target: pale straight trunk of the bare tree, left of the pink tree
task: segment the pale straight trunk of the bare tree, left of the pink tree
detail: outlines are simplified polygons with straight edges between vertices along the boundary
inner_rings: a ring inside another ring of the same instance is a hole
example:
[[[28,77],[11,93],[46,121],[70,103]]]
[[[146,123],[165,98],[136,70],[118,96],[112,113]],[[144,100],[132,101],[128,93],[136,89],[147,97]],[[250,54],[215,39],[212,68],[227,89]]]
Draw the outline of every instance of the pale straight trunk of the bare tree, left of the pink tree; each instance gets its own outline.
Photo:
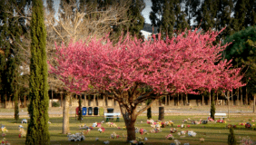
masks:
[[[63,111],[63,134],[69,133],[69,104],[70,104],[70,99],[71,98],[71,93],[68,92],[64,96],[64,111]]]

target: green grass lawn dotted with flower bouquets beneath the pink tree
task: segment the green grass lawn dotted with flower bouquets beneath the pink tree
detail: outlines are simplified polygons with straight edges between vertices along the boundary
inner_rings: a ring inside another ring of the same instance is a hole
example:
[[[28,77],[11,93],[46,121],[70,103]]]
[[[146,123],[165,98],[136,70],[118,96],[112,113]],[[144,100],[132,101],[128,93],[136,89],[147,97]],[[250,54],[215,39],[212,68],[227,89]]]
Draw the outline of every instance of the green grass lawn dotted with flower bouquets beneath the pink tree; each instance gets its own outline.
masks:
[[[158,116],[153,116],[153,120],[156,121]],[[236,135],[236,139],[240,141],[243,137],[250,137],[251,140],[256,141],[256,131],[252,131],[251,129],[245,129],[244,126],[239,126],[239,122],[251,122],[250,119],[256,120],[256,116],[237,116],[232,117],[231,122],[227,121],[227,123],[208,123],[208,124],[199,124],[193,125],[191,122],[183,123],[190,124],[190,128],[177,128],[177,125],[181,125],[182,121],[185,119],[191,118],[191,120],[199,121],[200,119],[206,119],[206,116],[165,116],[165,121],[173,121],[173,127],[167,126],[166,128],[162,128],[161,132],[158,133],[149,133],[145,135],[141,135],[140,133],[136,133],[137,137],[147,137],[148,140],[144,141],[146,144],[153,145],[161,145],[161,144],[170,144],[173,140],[165,139],[165,136],[170,134],[171,128],[176,128],[177,131],[195,131],[197,133],[196,137],[189,137],[187,134],[185,137],[179,136],[177,133],[172,134],[175,139],[180,140],[183,143],[189,142],[192,144],[207,144],[207,145],[215,145],[215,144],[227,144],[227,139],[229,135],[229,130],[226,128],[227,124],[235,124],[237,125],[237,129],[234,129],[234,133]],[[22,120],[22,119],[21,119]],[[18,121],[18,122],[21,122]],[[49,127],[49,131],[51,134],[51,144],[53,145],[83,145],[83,144],[103,144],[104,140],[109,140],[110,144],[127,144],[125,143],[126,138],[123,137],[123,134],[126,135],[126,130],[123,130],[124,122],[123,119],[120,122],[114,122],[121,129],[108,127],[105,123],[103,123],[103,127],[105,128],[105,132],[100,133],[98,128],[94,128],[94,130],[90,131],[88,134],[84,135],[85,140],[80,142],[71,142],[67,140],[67,136],[61,134],[62,132],[62,118],[51,118],[52,122]],[[80,121],[76,121],[74,117],[70,118],[70,131],[71,133],[81,132],[79,130],[79,125],[84,123],[87,126],[92,126],[93,123],[97,121],[103,121],[103,117],[84,117],[84,121],[80,123]],[[145,116],[138,117],[136,121],[136,127],[143,128],[146,131],[152,130],[150,124],[146,123],[147,119]],[[23,145],[25,144],[25,138],[19,138],[19,130],[18,125],[21,123],[15,123],[14,119],[0,119],[0,123],[5,125],[8,132],[6,133],[6,139],[11,143],[11,145]],[[253,124],[254,122],[251,122]],[[256,123],[255,123],[256,124]],[[25,127],[25,131],[27,129],[27,124],[23,124]],[[116,132],[120,135],[119,139],[109,139],[110,134]],[[98,141],[95,138],[99,138]],[[204,142],[201,142],[199,139],[204,138]],[[0,137],[2,140],[3,137]]]

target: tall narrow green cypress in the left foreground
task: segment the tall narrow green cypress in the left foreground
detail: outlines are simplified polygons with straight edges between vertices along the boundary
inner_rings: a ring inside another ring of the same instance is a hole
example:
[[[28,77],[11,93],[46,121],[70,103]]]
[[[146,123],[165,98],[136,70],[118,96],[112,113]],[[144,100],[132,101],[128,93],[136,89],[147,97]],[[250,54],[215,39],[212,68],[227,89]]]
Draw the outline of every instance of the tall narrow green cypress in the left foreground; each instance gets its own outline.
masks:
[[[32,40],[29,79],[30,104],[28,106],[30,121],[25,144],[44,145],[50,143],[50,134],[48,131],[49,97],[45,53],[46,30],[44,26],[44,5],[42,0],[33,0],[32,4]]]

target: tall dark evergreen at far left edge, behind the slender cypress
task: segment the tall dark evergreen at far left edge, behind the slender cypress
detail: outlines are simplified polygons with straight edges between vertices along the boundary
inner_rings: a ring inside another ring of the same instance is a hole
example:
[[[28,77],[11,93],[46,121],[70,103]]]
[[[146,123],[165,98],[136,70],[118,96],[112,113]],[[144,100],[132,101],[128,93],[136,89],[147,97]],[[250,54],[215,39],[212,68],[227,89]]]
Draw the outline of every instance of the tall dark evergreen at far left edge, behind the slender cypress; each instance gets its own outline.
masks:
[[[25,34],[25,18],[17,15],[24,14],[24,11],[25,0],[0,2],[0,99],[5,96],[5,107],[7,99],[16,99],[15,87],[18,87],[19,65],[23,56],[20,46]]]

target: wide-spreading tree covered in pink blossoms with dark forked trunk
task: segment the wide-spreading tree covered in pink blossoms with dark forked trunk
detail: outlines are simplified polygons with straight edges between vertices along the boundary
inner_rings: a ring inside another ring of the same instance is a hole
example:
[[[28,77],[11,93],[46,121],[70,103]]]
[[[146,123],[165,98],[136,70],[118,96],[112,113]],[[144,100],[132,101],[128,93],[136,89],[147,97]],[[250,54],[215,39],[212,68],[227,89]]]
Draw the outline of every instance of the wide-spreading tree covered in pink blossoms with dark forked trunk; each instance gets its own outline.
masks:
[[[218,32],[200,34],[188,31],[175,38],[153,41],[129,35],[113,44],[108,37],[90,42],[56,46],[58,74],[70,92],[94,90],[119,103],[127,128],[127,141],[135,140],[134,123],[139,114],[162,95],[176,92],[237,88],[241,86],[240,69],[221,60],[227,45],[212,45]],[[142,92],[142,88],[149,88]],[[137,111],[141,102],[152,99]]]

